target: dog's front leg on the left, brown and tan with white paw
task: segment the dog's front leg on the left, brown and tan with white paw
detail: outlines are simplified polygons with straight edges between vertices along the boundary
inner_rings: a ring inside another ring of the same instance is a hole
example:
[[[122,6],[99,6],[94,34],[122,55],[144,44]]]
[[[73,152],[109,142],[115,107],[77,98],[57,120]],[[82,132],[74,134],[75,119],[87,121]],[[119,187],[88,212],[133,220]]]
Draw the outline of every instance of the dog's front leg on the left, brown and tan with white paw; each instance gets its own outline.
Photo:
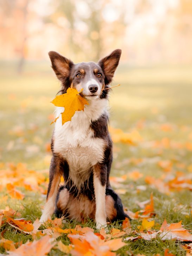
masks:
[[[51,159],[50,171],[49,171],[49,185],[47,190],[47,199],[43,214],[41,215],[40,222],[46,222],[51,218],[55,210],[56,197],[58,192],[58,186],[61,178],[60,170],[60,157],[59,154],[53,154]]]

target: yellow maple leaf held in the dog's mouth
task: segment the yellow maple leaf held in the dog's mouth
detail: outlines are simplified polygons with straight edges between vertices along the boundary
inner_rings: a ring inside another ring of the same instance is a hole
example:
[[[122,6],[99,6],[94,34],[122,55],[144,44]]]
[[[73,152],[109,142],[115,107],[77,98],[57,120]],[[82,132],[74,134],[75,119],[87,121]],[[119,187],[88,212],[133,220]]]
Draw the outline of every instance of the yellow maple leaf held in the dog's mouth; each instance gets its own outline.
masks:
[[[83,89],[81,89],[82,91]],[[56,96],[56,98],[51,101],[56,107],[64,107],[64,112],[61,113],[62,115],[62,125],[65,122],[71,121],[72,116],[75,114],[75,111],[81,111],[84,110],[84,105],[89,105],[87,100],[85,100],[83,97],[81,97],[79,92],[76,89],[68,88],[67,92]],[[52,122],[56,122],[56,119]],[[51,124],[52,124],[51,123]]]

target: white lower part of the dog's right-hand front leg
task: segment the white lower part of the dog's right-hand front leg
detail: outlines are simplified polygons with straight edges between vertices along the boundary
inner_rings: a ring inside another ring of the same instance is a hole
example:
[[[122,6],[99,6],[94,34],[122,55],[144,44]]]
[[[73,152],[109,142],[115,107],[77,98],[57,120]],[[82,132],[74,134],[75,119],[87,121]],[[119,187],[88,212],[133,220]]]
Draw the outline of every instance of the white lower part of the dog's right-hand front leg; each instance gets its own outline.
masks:
[[[101,185],[100,179],[94,173],[94,191],[95,191],[95,202],[96,202],[96,213],[95,220],[97,228],[107,225],[106,222],[106,211],[105,211],[105,190],[106,186]]]

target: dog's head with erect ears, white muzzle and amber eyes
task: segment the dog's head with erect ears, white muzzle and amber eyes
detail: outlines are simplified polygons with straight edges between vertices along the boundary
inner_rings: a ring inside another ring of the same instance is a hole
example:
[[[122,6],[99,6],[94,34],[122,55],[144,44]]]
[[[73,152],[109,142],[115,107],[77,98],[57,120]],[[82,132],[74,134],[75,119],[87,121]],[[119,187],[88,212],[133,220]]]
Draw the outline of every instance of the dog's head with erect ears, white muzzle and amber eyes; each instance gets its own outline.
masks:
[[[81,96],[88,99],[107,97],[109,90],[102,89],[108,88],[112,81],[120,56],[121,50],[116,49],[98,63],[81,62],[74,64],[70,59],[57,52],[49,52],[52,68],[62,83],[61,92],[65,93],[69,87],[78,91],[83,88]]]

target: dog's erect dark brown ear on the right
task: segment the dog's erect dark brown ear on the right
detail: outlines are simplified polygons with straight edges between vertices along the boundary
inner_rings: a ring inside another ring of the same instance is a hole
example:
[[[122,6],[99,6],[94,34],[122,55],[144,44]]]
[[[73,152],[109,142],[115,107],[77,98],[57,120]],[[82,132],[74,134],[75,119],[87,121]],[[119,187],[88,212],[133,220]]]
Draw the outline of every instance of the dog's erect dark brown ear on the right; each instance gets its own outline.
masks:
[[[98,64],[101,66],[105,74],[105,84],[109,84],[112,81],[114,72],[119,64],[119,59],[121,57],[121,50],[116,49],[111,52],[110,55],[101,59]]]

